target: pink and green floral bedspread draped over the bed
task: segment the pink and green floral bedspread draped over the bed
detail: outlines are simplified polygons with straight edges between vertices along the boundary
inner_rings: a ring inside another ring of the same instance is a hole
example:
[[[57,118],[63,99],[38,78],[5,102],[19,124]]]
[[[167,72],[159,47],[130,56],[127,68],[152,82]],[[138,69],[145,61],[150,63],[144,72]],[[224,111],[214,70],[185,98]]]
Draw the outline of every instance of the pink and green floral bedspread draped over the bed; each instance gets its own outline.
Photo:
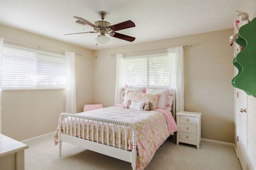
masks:
[[[152,159],[160,145],[162,145],[162,143],[164,143],[164,141],[170,135],[177,131],[176,122],[172,117],[172,113],[170,113],[170,111],[166,111],[166,109],[157,109],[156,111],[138,111],[134,109],[123,109],[122,107],[113,106],[77,114],[125,121],[134,125],[137,135],[137,170],[143,170],[149,164],[150,160]],[[100,129],[101,127],[102,125],[99,126]],[[56,145],[58,144],[57,131],[58,128],[56,130],[56,133],[54,134],[54,141]],[[74,129],[72,131],[74,135]],[[111,131],[112,130],[110,129],[110,133]],[[91,130],[90,133],[92,133]],[[96,140],[95,136],[96,135],[94,135],[94,140]],[[99,134],[99,136],[101,136],[101,134]],[[124,137],[123,134],[121,136]],[[82,134],[80,134],[80,137],[82,137]],[[110,138],[110,143],[112,143],[112,134],[110,134]],[[105,140],[107,140],[106,137],[104,137],[104,142],[106,142]],[[123,141],[124,140],[122,140],[122,145],[124,145]],[[118,133],[116,134],[115,142],[118,143]],[[128,129],[128,148],[132,150],[131,129]]]

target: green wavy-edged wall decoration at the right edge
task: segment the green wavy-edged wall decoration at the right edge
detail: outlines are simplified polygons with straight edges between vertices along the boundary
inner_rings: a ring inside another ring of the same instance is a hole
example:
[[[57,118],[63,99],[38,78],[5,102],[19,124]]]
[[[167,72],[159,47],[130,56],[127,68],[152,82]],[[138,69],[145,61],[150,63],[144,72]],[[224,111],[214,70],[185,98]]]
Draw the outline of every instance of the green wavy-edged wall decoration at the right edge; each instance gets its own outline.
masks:
[[[244,49],[233,60],[238,74],[231,84],[256,98],[256,18],[240,27],[236,43]]]

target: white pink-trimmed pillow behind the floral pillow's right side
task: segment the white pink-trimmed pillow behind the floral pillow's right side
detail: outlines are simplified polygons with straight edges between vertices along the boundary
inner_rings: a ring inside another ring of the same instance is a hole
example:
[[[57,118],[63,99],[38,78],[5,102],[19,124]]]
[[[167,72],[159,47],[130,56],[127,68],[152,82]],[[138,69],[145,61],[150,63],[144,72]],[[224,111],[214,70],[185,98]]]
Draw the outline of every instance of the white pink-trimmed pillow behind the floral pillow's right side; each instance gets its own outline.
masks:
[[[166,108],[166,104],[167,104],[167,99],[169,96],[169,92],[170,90],[164,90],[164,89],[146,89],[146,93],[149,94],[160,94],[160,98],[157,104],[157,108],[158,109],[165,109]]]

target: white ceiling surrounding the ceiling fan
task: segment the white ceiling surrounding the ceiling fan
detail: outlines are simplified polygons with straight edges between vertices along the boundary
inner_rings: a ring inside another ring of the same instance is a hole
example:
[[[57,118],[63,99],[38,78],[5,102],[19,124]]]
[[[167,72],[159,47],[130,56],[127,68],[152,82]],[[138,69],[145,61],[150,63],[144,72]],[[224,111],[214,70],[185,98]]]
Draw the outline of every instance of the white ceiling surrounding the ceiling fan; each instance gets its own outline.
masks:
[[[233,27],[242,0],[0,0],[0,24],[51,37],[88,49],[103,49],[142,43]],[[114,25],[132,20],[136,27],[116,31],[136,37],[129,42],[110,37],[99,46],[99,33],[89,25],[78,25],[73,16],[92,23],[99,11],[108,13],[105,21]],[[228,39],[229,37],[227,37]],[[228,40],[227,40],[228,41]]]

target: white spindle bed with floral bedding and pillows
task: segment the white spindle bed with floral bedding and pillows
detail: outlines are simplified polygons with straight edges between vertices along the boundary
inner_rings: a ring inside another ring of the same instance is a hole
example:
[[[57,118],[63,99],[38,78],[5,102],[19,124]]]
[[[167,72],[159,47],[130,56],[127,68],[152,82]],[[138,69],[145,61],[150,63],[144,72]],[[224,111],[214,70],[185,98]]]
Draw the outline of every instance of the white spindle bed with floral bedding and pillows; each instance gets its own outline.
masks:
[[[126,88],[122,99],[122,104],[112,107],[61,113],[54,134],[59,155],[64,141],[130,162],[133,170],[143,170],[160,145],[177,131],[175,96],[170,90]]]

